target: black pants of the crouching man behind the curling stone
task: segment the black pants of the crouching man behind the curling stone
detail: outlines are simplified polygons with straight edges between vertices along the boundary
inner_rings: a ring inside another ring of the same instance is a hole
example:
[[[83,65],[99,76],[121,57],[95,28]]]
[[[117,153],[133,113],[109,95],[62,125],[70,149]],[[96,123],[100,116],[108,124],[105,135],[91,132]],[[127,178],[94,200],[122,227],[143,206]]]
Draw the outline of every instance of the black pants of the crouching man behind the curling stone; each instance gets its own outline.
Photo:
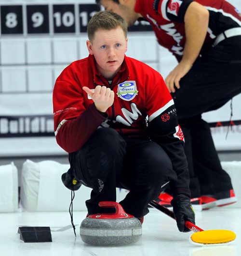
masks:
[[[98,203],[116,201],[116,187],[120,187],[130,190],[120,202],[123,209],[135,217],[144,216],[147,204],[164,190],[161,186],[176,181],[172,163],[157,143],[124,139],[112,128],[97,129],[69,159],[75,177],[93,189],[86,201],[90,214],[111,212]]]

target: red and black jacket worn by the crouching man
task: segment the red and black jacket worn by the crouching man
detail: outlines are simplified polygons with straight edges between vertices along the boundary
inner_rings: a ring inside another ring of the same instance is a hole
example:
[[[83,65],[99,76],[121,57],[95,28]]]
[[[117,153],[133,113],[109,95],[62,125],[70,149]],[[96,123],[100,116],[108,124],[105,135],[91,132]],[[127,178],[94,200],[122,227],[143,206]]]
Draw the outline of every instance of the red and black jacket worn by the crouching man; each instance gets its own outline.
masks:
[[[97,85],[105,85],[115,93],[114,103],[105,115],[97,111],[93,100],[82,90],[83,86],[94,90]],[[109,85],[90,55],[71,63],[59,75],[53,103],[55,136],[65,151],[78,151],[97,128],[110,127],[122,136],[150,138],[169,155],[178,176],[176,187],[188,194],[183,134],[173,99],[157,71],[125,56],[120,72]]]

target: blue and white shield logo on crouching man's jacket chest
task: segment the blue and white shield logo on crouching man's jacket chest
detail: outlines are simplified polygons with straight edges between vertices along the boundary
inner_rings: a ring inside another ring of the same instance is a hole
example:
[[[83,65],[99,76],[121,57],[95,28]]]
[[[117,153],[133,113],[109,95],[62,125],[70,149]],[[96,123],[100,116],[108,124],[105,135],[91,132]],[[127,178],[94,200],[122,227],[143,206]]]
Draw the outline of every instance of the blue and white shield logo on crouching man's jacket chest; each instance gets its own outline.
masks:
[[[137,95],[135,81],[125,81],[118,85],[117,95],[124,101],[131,101]]]

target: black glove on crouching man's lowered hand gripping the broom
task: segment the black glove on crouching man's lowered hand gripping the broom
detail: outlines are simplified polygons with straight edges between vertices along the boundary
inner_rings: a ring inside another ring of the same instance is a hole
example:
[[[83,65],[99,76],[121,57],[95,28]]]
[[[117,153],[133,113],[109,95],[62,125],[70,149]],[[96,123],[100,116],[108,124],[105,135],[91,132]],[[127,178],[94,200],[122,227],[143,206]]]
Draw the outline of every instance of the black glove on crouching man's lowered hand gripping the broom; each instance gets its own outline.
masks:
[[[195,212],[191,206],[190,198],[185,195],[175,196],[171,201],[173,212],[176,218],[176,224],[180,232],[189,232],[185,226],[185,221],[195,224]]]

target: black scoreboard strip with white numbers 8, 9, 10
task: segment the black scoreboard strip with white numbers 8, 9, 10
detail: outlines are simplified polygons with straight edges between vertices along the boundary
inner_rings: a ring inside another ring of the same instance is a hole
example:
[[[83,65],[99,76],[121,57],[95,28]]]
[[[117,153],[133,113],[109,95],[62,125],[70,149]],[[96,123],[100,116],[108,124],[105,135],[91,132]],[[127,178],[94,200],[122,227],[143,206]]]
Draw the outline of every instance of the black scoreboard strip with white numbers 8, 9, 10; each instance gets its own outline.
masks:
[[[96,4],[1,5],[1,35],[86,33]],[[149,31],[147,22],[136,22],[129,31]]]

